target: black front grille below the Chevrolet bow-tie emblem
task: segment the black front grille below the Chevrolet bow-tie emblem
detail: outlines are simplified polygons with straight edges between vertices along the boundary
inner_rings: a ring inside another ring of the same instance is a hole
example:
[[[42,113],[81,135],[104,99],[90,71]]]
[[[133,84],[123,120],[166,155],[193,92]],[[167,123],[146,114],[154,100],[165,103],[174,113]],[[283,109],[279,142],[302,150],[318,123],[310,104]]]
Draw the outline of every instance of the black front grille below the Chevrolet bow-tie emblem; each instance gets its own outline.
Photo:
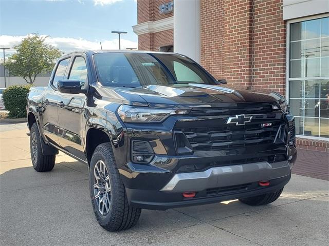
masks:
[[[186,135],[194,151],[227,150],[246,146],[257,147],[264,144],[284,144],[284,139],[281,138],[285,135],[286,127],[282,114],[258,114],[252,116],[252,121],[242,126],[226,124],[229,116],[191,121],[185,120],[176,123],[175,131]],[[270,123],[271,126],[263,127],[262,124],[264,123]]]

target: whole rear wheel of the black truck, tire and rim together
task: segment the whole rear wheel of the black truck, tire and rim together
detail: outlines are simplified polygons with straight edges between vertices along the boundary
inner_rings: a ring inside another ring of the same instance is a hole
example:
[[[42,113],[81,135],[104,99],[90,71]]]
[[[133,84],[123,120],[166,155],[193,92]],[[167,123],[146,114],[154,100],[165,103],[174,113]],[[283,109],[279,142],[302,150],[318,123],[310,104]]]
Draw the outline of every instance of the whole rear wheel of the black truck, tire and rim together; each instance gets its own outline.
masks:
[[[56,155],[43,155],[38,126],[34,123],[30,130],[30,152],[32,165],[37,172],[51,171],[55,165]]]

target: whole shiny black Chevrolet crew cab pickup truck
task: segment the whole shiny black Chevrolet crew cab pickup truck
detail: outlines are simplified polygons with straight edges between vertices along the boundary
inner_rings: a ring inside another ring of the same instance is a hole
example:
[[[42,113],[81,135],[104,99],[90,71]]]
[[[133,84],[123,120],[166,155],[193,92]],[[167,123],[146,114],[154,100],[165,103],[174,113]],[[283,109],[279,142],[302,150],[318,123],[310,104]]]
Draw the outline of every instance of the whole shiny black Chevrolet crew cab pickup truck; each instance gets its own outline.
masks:
[[[97,220],[133,227],[141,209],[275,201],[296,160],[284,97],[216,80],[176,53],[83,51],[28,95],[33,168],[62,151],[89,167]]]

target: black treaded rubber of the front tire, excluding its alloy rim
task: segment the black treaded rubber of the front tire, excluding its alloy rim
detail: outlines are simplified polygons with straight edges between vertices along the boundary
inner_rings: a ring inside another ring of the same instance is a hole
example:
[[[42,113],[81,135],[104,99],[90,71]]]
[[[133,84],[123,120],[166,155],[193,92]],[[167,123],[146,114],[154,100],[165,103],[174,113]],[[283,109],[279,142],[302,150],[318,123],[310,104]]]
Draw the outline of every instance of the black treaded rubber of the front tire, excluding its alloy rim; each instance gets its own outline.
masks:
[[[107,160],[110,164],[107,165],[108,172],[112,174],[112,176],[110,176],[112,187],[116,187],[115,189],[111,190],[111,196],[115,197],[115,200],[111,201],[111,207],[114,208],[112,209],[113,214],[107,215],[110,216],[111,219],[104,221],[102,218],[100,218],[97,211],[98,208],[95,206],[94,202],[92,202],[96,218],[99,224],[107,231],[114,232],[132,228],[135,226],[139,219],[141,209],[134,208],[128,203],[125,188],[119,175],[111,144],[109,142],[105,142],[97,146],[94,151],[91,163],[97,162],[98,159],[94,158],[97,158],[98,155],[103,156],[104,162],[106,163]],[[94,172],[94,170],[90,168],[90,172]],[[93,200],[94,198],[92,193],[93,191],[90,190],[90,196]],[[111,213],[111,210],[109,213]]]

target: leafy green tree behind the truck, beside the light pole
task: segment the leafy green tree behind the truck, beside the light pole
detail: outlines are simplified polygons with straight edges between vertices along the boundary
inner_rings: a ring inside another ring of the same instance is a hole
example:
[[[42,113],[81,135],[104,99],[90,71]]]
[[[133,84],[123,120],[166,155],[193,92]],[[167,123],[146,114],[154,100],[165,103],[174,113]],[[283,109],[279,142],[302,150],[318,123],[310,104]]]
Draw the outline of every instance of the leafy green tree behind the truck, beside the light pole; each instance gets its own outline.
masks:
[[[33,85],[37,75],[51,71],[54,62],[63,52],[45,44],[47,37],[31,34],[21,44],[14,46],[16,53],[8,57],[5,63],[12,75],[21,76]]]

